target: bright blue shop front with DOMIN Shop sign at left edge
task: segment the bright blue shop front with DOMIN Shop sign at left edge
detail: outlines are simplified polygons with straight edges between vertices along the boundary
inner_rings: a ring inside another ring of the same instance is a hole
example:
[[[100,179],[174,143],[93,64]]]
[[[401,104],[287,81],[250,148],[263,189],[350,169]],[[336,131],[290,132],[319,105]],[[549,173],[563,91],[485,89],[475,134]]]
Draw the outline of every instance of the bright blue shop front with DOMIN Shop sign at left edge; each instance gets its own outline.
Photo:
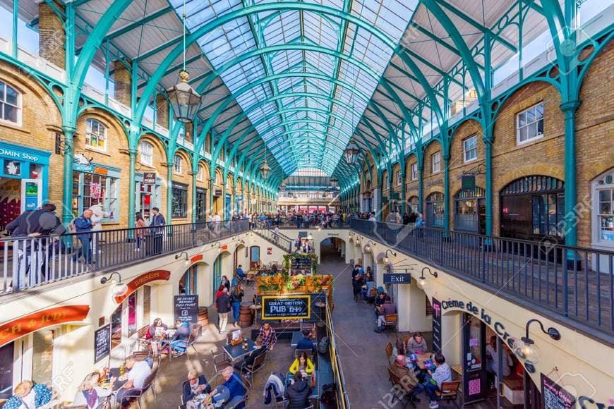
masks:
[[[25,210],[47,200],[51,152],[0,142],[0,233]]]

